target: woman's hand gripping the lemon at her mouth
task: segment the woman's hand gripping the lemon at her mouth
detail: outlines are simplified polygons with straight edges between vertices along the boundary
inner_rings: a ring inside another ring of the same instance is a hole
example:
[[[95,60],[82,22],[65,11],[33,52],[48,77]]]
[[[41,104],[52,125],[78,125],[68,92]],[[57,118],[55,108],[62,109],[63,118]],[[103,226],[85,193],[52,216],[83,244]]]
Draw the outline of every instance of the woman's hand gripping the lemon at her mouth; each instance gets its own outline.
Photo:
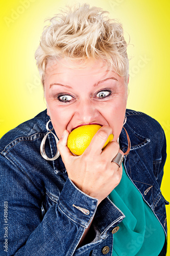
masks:
[[[111,133],[110,126],[102,126],[81,156],[74,156],[69,151],[67,130],[57,143],[70,180],[85,194],[98,199],[98,204],[111,193],[122,178],[122,166],[118,167],[112,162],[118,152],[124,156],[118,143],[111,141],[102,151]]]

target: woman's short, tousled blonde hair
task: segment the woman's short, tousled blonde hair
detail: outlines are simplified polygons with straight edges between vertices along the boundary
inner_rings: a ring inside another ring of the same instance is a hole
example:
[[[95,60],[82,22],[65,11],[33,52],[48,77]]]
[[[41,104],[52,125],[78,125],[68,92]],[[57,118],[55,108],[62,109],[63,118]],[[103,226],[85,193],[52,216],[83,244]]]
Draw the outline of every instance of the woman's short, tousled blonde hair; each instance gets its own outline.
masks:
[[[118,75],[128,77],[129,59],[122,24],[109,19],[106,13],[84,4],[66,7],[50,19],[35,52],[42,84],[47,62],[60,58],[100,58]]]

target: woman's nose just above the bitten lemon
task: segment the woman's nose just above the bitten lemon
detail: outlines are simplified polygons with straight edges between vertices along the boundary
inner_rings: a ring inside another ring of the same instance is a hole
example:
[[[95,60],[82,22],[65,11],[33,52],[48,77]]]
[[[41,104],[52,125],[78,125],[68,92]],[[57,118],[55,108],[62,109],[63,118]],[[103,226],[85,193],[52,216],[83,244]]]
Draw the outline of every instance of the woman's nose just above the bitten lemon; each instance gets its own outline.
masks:
[[[96,122],[99,115],[99,111],[90,100],[81,100],[75,113],[75,117],[80,123]]]

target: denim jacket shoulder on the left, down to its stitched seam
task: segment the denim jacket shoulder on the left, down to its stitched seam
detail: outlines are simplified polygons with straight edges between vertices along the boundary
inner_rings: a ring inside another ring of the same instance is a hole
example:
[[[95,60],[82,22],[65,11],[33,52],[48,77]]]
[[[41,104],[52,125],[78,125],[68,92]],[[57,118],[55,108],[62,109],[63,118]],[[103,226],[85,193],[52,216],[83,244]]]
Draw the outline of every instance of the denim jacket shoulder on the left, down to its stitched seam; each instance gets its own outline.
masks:
[[[14,146],[19,141],[34,140],[38,137],[42,138],[44,133],[46,133],[45,125],[46,110],[6,133],[0,140],[0,152],[8,150],[8,148]]]

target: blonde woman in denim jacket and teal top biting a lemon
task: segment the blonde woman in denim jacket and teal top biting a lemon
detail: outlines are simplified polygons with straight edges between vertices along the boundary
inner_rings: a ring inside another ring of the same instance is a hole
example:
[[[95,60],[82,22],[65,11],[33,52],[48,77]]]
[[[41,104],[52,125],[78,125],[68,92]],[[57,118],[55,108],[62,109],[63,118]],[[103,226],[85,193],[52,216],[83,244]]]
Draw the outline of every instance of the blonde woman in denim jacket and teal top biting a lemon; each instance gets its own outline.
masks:
[[[86,4],[44,30],[35,55],[47,111],[0,142],[1,255],[166,254],[166,141],[156,120],[126,110],[126,50],[122,26]],[[73,155],[69,133],[96,123]]]

